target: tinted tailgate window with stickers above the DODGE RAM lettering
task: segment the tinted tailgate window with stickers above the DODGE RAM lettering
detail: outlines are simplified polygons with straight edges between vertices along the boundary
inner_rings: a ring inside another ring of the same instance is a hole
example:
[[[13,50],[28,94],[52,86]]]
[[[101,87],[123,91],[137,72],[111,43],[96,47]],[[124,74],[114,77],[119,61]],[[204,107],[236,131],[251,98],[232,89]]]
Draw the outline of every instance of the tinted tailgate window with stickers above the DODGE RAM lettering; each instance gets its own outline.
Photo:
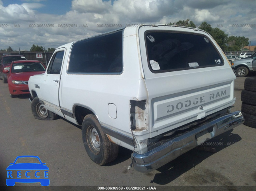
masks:
[[[146,32],[145,41],[153,73],[224,65],[210,39],[203,35]]]

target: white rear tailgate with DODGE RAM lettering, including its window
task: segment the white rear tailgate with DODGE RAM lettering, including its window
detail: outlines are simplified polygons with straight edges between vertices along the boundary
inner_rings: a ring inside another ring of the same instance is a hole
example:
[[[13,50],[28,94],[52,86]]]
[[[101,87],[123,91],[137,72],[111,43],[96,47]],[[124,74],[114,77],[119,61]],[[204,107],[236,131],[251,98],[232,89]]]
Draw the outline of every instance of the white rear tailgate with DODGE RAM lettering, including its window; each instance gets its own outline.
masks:
[[[139,41],[149,96],[150,137],[234,104],[234,72],[207,33],[143,26]]]

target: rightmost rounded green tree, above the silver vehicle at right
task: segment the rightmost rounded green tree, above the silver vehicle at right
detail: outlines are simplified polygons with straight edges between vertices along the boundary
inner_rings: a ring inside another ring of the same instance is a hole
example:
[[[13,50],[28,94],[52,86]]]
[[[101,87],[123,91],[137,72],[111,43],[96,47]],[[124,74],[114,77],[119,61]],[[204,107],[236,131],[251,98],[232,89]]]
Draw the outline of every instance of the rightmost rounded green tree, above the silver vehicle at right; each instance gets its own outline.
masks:
[[[230,36],[228,37],[228,51],[239,51],[244,46],[249,45],[249,38],[244,36]]]

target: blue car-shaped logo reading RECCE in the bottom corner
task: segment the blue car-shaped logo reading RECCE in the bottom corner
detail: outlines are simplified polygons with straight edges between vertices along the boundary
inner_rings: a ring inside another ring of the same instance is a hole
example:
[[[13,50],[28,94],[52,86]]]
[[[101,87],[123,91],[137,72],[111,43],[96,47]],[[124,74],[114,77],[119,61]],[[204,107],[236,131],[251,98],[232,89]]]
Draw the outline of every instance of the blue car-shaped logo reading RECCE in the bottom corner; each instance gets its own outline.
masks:
[[[7,186],[14,186],[15,183],[37,183],[42,186],[50,185],[48,177],[49,168],[38,156],[18,156],[7,170]]]

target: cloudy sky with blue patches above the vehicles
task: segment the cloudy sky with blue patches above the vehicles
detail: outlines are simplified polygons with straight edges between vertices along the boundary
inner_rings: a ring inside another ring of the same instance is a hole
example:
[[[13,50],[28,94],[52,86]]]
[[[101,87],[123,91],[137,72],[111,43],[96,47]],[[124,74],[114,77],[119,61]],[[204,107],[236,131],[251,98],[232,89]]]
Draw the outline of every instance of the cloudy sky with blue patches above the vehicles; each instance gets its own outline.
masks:
[[[0,49],[56,48],[113,30],[113,25],[186,19],[197,26],[206,21],[256,45],[254,0],[0,0]]]

